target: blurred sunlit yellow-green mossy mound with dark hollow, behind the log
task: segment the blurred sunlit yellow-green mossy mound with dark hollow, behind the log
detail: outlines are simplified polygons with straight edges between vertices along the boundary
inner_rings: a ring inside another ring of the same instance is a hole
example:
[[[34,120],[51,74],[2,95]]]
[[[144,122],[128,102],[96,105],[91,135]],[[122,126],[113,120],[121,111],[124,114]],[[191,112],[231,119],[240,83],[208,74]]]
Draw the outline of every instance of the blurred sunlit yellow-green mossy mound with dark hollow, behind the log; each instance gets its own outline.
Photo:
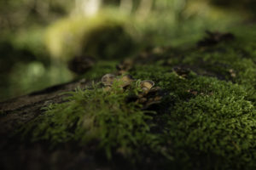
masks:
[[[104,13],[92,18],[71,16],[49,26],[45,43],[50,54],[63,60],[79,54],[102,59],[124,57],[134,43],[125,31],[124,20]]]

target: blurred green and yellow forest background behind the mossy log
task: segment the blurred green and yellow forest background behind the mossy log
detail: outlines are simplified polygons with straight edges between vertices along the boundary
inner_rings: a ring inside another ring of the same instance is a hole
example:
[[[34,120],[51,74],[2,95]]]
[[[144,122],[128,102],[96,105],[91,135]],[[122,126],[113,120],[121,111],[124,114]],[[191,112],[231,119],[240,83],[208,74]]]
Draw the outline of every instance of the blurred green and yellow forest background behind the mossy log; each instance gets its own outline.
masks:
[[[148,47],[193,47],[255,14],[254,0],[1,0],[0,101],[72,81],[75,56],[101,69]]]

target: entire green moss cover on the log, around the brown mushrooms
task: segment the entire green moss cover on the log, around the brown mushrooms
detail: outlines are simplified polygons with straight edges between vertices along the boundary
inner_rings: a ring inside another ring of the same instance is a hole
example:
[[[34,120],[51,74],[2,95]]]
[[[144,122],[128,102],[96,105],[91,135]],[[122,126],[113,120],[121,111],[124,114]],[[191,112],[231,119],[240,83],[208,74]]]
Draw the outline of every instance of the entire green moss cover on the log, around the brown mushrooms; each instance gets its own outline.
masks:
[[[127,100],[140,92],[138,82],[125,91],[116,82],[108,92],[97,84],[70,93],[67,102],[49,105],[23,133],[52,146],[94,144],[108,159],[120,154],[135,166],[149,160],[146,167],[163,169],[254,169],[255,43],[235,35],[232,42],[163,48],[153,50],[150,59],[138,59],[129,73],[154,81],[164,92],[161,103],[149,111]],[[92,69],[84,77],[100,78],[113,65],[105,61],[106,69]],[[190,70],[186,77],[172,71],[177,65]]]

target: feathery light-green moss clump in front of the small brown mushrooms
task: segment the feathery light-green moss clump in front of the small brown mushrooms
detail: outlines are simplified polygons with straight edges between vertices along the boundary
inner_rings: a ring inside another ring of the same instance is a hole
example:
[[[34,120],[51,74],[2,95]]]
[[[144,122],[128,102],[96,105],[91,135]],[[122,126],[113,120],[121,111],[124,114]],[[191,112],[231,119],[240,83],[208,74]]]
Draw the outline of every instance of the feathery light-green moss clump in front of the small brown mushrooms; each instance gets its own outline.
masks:
[[[130,95],[135,95],[141,88],[133,83],[130,90],[119,88],[114,82],[111,91],[104,91],[100,84],[90,89],[77,89],[69,93],[67,102],[49,105],[44,116],[30,122],[23,134],[32,135],[32,141],[45,140],[51,146],[78,142],[79,145],[97,144],[105,150],[106,156],[120,152],[123,156],[137,156],[134,150],[153,146],[156,136],[149,133],[152,116],[141,111],[141,105],[126,103]]]

